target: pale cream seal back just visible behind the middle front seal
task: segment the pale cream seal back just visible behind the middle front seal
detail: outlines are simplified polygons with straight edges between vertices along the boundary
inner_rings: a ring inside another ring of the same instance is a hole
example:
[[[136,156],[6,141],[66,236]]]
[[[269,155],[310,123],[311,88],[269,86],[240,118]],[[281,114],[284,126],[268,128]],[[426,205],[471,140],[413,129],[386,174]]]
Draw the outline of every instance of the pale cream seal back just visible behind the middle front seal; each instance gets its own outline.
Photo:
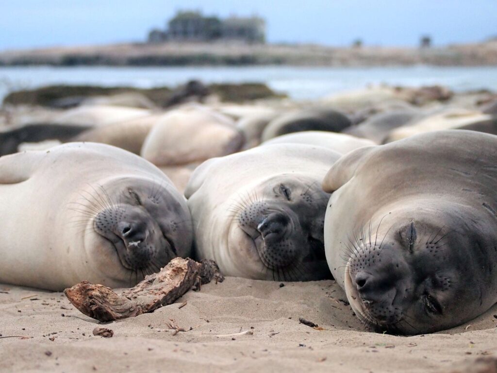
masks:
[[[265,141],[262,145],[272,144],[308,144],[323,146],[340,154],[346,154],[354,149],[363,146],[376,145],[371,140],[360,139],[344,133],[334,133],[326,131],[304,131],[289,133]]]

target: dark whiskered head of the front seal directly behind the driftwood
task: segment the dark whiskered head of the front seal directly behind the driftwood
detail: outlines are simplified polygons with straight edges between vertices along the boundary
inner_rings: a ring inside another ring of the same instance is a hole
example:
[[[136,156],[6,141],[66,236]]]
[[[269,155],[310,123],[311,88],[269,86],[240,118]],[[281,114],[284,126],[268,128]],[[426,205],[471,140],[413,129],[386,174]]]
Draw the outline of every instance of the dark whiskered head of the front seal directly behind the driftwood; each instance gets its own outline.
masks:
[[[139,281],[172,258],[188,255],[191,217],[184,198],[170,185],[118,178],[80,194],[90,211],[85,246],[108,258],[101,262],[107,266],[103,271],[117,267],[130,282]]]

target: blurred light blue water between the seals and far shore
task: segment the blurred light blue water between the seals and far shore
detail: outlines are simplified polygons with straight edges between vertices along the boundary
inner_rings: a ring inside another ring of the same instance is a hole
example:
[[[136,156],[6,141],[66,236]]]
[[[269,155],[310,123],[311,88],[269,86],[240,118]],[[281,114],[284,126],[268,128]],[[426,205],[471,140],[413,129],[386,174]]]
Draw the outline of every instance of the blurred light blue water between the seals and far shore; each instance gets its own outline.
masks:
[[[456,92],[497,91],[497,67],[0,67],[0,101],[10,91],[53,84],[174,87],[198,79],[204,83],[265,83],[296,100],[389,84],[443,85]]]

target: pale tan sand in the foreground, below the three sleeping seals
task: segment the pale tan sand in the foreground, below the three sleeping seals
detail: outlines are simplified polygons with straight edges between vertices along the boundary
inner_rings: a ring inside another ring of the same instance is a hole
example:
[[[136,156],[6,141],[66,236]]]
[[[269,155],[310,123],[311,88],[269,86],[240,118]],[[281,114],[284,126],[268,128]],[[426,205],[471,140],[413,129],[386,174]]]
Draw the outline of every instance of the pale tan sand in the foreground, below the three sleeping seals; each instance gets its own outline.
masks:
[[[154,313],[99,325],[63,293],[1,285],[0,370],[449,372],[497,350],[497,305],[457,328],[399,337],[365,331],[334,281],[280,286],[227,278]],[[93,336],[98,326],[113,337]]]

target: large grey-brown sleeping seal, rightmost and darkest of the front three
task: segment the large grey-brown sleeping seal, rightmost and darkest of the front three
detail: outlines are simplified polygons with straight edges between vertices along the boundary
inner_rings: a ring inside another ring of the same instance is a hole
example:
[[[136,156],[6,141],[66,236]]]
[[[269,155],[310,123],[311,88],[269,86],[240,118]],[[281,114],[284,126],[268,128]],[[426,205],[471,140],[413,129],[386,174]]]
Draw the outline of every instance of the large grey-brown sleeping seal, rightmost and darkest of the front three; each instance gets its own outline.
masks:
[[[367,326],[435,332],[497,302],[496,183],[497,137],[464,130],[361,148],[331,167],[326,257]]]

